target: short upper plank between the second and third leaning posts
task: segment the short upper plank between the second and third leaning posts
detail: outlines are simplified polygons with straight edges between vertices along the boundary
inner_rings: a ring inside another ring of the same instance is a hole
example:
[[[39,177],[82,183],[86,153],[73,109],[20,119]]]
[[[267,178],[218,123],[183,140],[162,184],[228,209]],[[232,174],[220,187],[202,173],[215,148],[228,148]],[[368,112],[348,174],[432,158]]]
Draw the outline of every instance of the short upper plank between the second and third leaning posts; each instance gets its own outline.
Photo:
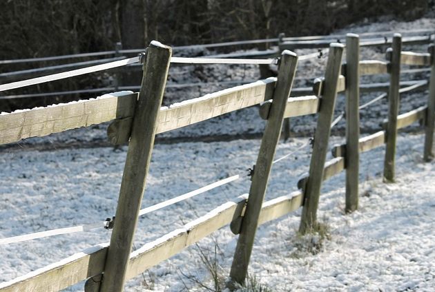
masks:
[[[317,96],[299,96],[291,97],[287,100],[285,107],[284,118],[293,116],[306,116],[307,114],[316,114],[319,109],[320,98]],[[272,100],[264,101],[260,104],[259,114],[263,120],[269,118],[269,111],[272,105]]]

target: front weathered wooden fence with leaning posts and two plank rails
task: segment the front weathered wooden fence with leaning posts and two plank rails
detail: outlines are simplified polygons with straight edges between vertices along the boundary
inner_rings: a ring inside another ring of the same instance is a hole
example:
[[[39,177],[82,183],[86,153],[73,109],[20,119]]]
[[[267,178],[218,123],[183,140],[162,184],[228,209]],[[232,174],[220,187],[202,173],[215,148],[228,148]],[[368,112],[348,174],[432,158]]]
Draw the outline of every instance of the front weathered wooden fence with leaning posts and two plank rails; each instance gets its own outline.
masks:
[[[1,114],[0,144],[112,121],[108,136],[115,144],[128,142],[128,154],[110,244],[99,244],[61,262],[3,282],[0,291],[58,291],[82,280],[87,280],[86,291],[122,291],[125,280],[226,225],[230,225],[233,233],[239,234],[230,278],[235,282],[244,282],[258,225],[303,207],[300,231],[307,231],[316,224],[323,180],[346,169],[346,210],[358,208],[358,160],[361,152],[386,144],[384,176],[387,182],[393,181],[396,132],[423,119],[426,137],[423,155],[425,160],[433,158],[434,46],[429,47],[429,53],[416,53],[402,52],[400,44],[401,36],[396,34],[386,61],[360,61],[358,35],[348,34],[344,64],[342,53],[345,46],[330,44],[325,77],[316,81],[313,94],[309,96],[289,98],[298,56],[284,50],[277,78],[233,87],[171,107],[161,107],[172,50],[152,42],[148,53],[142,57],[144,75],[138,94],[113,94],[79,103]],[[399,115],[400,64],[430,67],[432,74],[427,105]],[[390,75],[389,114],[385,130],[360,138],[360,76],[385,73]],[[326,161],[338,92],[345,92],[347,96],[346,143],[334,146],[332,152],[335,158]],[[253,105],[260,106],[259,116],[267,124],[249,194],[226,202],[181,229],[171,231],[131,252],[155,134]],[[299,181],[298,191],[263,202],[282,122],[284,118],[307,114],[318,115],[309,173]]]

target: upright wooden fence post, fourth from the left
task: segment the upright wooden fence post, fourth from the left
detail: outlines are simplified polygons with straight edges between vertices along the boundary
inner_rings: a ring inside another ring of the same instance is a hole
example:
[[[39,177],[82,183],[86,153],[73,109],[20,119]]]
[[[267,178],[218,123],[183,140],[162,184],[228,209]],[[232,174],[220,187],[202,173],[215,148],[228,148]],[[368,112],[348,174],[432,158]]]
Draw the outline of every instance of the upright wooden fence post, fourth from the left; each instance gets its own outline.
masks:
[[[358,209],[360,154],[360,39],[346,35],[346,207],[347,213]]]

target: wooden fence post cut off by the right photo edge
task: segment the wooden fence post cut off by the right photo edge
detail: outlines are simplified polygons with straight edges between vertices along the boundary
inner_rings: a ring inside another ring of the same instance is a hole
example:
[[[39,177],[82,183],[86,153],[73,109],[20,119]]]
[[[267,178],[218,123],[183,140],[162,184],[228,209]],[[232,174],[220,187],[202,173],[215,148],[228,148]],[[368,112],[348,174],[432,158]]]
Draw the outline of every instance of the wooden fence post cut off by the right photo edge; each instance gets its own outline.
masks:
[[[434,144],[434,123],[435,123],[435,45],[429,45],[430,60],[432,69],[430,71],[429,96],[427,97],[427,116],[425,123],[425,152],[423,159],[430,161],[434,158],[432,150]]]

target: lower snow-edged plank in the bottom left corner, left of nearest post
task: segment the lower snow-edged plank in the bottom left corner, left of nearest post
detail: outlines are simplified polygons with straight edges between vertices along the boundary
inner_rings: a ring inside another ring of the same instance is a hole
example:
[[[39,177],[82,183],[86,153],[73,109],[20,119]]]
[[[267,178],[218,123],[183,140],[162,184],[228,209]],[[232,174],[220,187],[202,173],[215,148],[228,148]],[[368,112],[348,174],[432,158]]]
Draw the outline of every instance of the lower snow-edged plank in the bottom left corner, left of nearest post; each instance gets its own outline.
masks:
[[[1,292],[54,292],[104,271],[108,244],[90,247],[69,258],[0,283]]]

